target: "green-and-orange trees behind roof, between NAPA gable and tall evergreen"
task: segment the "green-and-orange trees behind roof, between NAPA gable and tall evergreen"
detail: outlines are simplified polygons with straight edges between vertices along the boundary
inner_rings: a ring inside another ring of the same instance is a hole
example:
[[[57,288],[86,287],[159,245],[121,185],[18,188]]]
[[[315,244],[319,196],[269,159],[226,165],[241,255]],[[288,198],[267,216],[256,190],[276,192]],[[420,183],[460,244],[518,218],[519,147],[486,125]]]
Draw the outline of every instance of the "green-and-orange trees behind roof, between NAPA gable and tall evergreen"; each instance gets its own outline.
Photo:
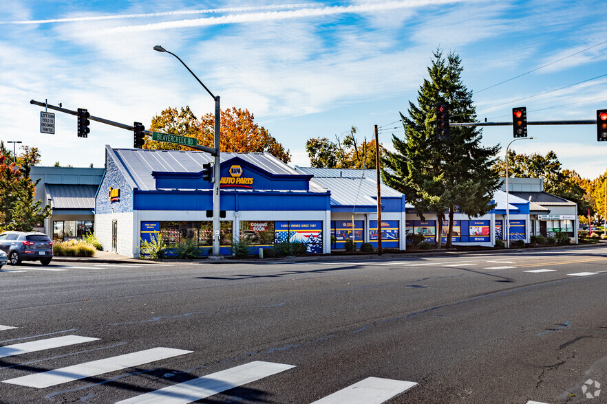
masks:
[[[326,137],[315,137],[306,142],[310,166],[315,168],[375,168],[375,139],[359,144],[356,127],[352,126],[343,139],[335,135],[335,142]],[[385,148],[379,145],[380,157],[385,156]]]

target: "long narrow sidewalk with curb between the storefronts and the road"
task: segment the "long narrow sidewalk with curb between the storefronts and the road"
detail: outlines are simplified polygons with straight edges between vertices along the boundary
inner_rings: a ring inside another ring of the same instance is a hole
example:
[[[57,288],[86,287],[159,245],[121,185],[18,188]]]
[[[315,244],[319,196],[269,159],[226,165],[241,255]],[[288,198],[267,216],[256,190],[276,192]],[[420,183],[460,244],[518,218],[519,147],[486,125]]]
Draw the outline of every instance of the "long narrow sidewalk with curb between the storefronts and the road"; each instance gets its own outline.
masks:
[[[210,259],[200,258],[196,260],[178,260],[173,258],[167,258],[160,261],[146,260],[144,258],[130,258],[127,256],[120,256],[116,253],[109,251],[96,251],[94,257],[53,257],[53,262],[89,262],[98,264],[142,264],[146,263],[149,265],[160,264],[162,262],[171,263],[184,263],[184,262],[204,262],[205,264],[235,264],[235,263],[248,263],[257,264],[264,262],[317,262],[317,261],[339,261],[339,260],[372,260],[372,259],[384,259],[394,260],[403,258],[419,258],[419,257],[440,257],[440,256],[465,256],[467,254],[509,254],[513,252],[533,252],[533,251],[553,251],[557,249],[580,249],[580,248],[601,248],[607,247],[607,241],[601,241],[597,244],[573,244],[573,245],[555,245],[546,247],[535,247],[535,248],[522,248],[522,249],[474,249],[466,251],[456,250],[429,250],[429,251],[415,251],[415,252],[403,252],[403,253],[386,253],[378,256],[376,253],[372,254],[339,254],[339,255],[322,255],[322,256],[301,256],[301,257],[284,257],[284,258],[248,258],[248,259],[235,259],[235,258],[222,258],[222,259]]]

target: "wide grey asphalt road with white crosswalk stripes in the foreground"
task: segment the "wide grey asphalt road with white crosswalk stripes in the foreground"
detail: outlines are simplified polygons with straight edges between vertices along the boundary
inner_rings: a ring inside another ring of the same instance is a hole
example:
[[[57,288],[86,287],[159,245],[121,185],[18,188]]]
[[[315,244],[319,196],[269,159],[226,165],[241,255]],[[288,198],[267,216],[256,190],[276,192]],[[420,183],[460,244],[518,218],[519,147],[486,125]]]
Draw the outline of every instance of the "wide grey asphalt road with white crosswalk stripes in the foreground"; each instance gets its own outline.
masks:
[[[0,402],[607,403],[606,291],[603,247],[8,266]]]

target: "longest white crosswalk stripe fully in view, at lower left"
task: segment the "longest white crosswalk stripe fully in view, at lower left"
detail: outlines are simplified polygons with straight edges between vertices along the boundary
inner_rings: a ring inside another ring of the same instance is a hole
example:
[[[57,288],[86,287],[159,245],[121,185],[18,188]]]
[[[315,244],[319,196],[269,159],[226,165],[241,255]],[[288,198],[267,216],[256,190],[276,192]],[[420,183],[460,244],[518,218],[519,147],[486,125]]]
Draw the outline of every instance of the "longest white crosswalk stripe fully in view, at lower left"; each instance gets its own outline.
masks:
[[[28,374],[27,376],[16,377],[14,379],[5,380],[2,383],[24,385],[31,388],[47,388],[52,385],[67,383],[87,377],[97,376],[98,374],[115,372],[116,370],[139,366],[144,363],[159,361],[191,353],[191,350],[182,350],[174,348],[151,348],[139,352],[133,352],[126,355],[119,355],[98,361],[81,363],[74,366],[67,366],[56,370],[49,370],[36,374]]]

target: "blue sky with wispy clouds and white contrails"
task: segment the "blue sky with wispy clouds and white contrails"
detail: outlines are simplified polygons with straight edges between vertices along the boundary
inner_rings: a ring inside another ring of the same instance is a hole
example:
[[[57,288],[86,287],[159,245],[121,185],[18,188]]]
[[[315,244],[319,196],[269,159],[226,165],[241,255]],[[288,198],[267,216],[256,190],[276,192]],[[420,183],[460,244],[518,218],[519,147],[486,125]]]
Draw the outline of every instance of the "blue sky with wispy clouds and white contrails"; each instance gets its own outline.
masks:
[[[146,127],[167,106],[212,112],[209,94],[154,45],[180,56],[223,108],[251,111],[299,166],[309,164],[306,139],[352,125],[369,139],[378,124],[390,147],[439,46],[460,55],[480,120],[509,121],[515,106],[530,121],[593,120],[607,109],[604,15],[604,2],[571,0],[3,0],[0,139],[39,147],[43,165],[103,167],[103,146],[131,148],[131,132],[92,122],[81,139],[76,117],[56,113],[56,133],[42,134],[43,109],[30,100]],[[537,139],[511,148],[554,150],[590,179],[606,170],[594,125],[529,126],[529,135]],[[511,126],[483,130],[488,146],[512,139]]]

